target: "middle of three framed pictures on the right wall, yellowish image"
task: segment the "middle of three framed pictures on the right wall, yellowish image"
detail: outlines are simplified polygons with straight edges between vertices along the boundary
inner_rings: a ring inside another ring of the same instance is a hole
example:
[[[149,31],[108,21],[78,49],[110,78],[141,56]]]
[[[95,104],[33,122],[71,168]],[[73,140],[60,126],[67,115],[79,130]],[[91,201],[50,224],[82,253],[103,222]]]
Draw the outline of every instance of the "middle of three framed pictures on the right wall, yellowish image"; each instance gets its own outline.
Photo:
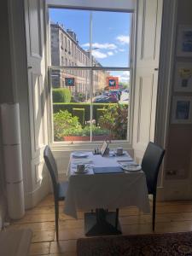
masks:
[[[192,92],[192,63],[177,62],[175,68],[174,90]]]

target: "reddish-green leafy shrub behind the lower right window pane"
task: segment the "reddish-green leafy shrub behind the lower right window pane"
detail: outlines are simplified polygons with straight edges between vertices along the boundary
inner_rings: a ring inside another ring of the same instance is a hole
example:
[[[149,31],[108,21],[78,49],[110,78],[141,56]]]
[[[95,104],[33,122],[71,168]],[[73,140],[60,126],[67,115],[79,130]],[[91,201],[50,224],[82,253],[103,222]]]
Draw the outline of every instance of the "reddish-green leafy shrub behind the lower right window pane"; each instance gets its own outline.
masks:
[[[102,129],[110,132],[113,139],[125,139],[127,132],[127,108],[122,105],[109,105],[99,119]]]

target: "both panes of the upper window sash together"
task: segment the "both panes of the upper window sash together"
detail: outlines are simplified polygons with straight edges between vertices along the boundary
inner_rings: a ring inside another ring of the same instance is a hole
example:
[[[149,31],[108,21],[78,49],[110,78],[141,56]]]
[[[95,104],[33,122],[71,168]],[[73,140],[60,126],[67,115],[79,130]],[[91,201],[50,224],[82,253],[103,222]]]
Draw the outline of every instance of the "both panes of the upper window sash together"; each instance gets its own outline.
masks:
[[[61,65],[54,54],[60,49],[73,64],[90,66],[91,26],[93,66],[129,67],[131,14],[92,11],[91,15],[92,22],[89,10],[49,9],[51,65]]]

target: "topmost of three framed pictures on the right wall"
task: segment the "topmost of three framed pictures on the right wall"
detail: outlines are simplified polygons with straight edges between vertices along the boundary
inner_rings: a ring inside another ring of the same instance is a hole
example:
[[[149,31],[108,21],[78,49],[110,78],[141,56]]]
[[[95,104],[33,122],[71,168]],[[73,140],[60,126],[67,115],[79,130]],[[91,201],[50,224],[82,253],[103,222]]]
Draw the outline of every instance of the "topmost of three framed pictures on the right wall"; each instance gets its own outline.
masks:
[[[192,26],[178,26],[177,56],[192,57]]]

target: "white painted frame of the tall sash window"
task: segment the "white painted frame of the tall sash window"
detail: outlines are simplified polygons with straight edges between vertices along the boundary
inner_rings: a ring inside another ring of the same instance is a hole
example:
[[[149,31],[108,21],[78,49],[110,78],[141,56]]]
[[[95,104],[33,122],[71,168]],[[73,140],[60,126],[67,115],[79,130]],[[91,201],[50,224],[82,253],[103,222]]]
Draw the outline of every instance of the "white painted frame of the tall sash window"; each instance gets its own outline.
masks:
[[[50,0],[51,1],[51,0]],[[48,0],[48,2],[50,2]],[[46,47],[47,51],[47,63],[48,63],[48,73],[49,73],[49,81],[51,80],[50,77],[50,32],[49,32],[49,8],[61,8],[61,9],[82,9],[85,10],[85,8],[82,6],[82,8],[75,8],[73,6],[60,6],[60,5],[55,5],[55,4],[45,4],[45,9],[46,9],[46,35],[48,39],[48,44]],[[128,116],[129,116],[129,122],[128,122],[128,127],[127,127],[127,140],[113,140],[111,142],[111,147],[117,148],[119,146],[124,147],[125,149],[132,149],[131,144],[132,144],[132,125],[133,125],[133,105],[134,105],[134,83],[135,83],[135,67],[136,67],[136,10],[135,9],[111,9],[111,8],[101,8],[101,9],[87,9],[87,10],[92,10],[92,11],[113,11],[113,12],[125,12],[125,13],[130,13],[131,14],[131,41],[130,41],[130,67],[102,67],[102,69],[108,69],[108,70],[114,70],[114,71],[124,71],[124,70],[129,70],[130,71],[130,102],[129,102],[129,109],[128,109]],[[78,49],[78,47],[77,47]],[[79,49],[78,49],[78,55],[79,55]],[[72,67],[65,67],[67,68],[72,68]],[[75,70],[78,71],[78,69],[91,69],[93,71],[96,70],[96,67],[73,67]],[[102,144],[102,141],[88,141],[88,142],[55,142],[54,141],[54,124],[53,124],[53,108],[52,108],[52,93],[50,93],[52,90],[52,87],[49,83],[49,96],[48,96],[48,104],[49,104],[49,144],[53,150],[67,150],[67,151],[73,151],[74,149],[92,149],[93,146],[98,146]]]

